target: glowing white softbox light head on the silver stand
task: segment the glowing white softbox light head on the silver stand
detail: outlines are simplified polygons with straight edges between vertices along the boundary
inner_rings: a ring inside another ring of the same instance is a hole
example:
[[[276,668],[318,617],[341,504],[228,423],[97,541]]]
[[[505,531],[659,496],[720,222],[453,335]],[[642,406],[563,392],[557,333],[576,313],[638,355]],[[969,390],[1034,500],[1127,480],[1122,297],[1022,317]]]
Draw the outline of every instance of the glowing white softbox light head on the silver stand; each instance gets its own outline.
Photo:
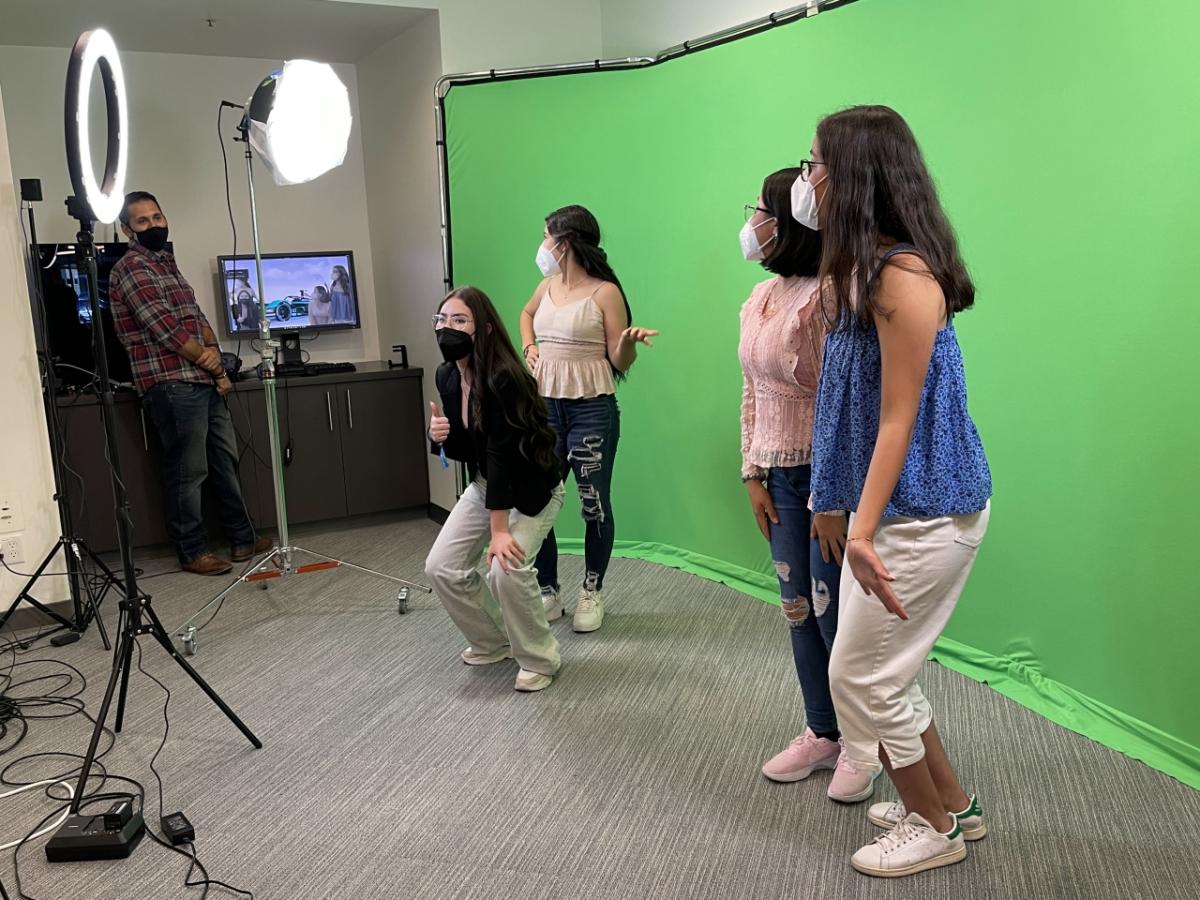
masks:
[[[346,160],[350,97],[326,62],[283,64],[246,102],[251,146],[277,185],[302,185]]]

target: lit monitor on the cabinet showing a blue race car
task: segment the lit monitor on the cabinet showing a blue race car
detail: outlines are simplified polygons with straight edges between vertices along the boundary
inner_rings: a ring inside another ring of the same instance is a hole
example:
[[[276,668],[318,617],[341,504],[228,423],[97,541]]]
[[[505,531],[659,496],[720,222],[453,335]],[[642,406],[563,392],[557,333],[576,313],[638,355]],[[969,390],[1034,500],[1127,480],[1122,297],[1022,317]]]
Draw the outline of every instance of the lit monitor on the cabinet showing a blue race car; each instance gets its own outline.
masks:
[[[259,288],[253,256],[217,257],[226,331],[230,337],[258,334],[262,296],[266,324],[275,334],[361,328],[354,253],[264,253]]]

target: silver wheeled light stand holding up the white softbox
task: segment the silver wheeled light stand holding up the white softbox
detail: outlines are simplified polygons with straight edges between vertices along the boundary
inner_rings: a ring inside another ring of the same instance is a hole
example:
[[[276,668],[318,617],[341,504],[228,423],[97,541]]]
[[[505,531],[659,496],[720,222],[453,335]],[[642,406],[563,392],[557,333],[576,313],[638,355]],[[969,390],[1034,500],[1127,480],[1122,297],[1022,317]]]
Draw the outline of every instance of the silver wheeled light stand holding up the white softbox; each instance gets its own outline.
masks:
[[[229,101],[222,101],[222,107],[245,109],[245,107],[241,107],[238,103],[230,103]],[[253,103],[251,112],[253,112]],[[406,581],[404,578],[397,578],[394,575],[386,575],[384,572],[376,571],[374,569],[367,569],[364,565],[348,563],[344,559],[329,557],[324,553],[318,553],[313,550],[296,546],[290,541],[290,535],[288,534],[287,494],[283,485],[283,454],[280,448],[280,408],[276,397],[275,383],[275,352],[278,349],[280,343],[271,337],[270,325],[266,319],[266,301],[263,296],[263,253],[258,238],[258,205],[254,199],[254,161],[250,142],[251,112],[247,112],[242,116],[241,124],[238,126],[240,136],[235,138],[235,140],[246,145],[246,178],[250,185],[250,218],[252,224],[251,230],[254,239],[254,271],[258,276],[258,292],[254,301],[258,304],[258,336],[262,343],[262,367],[259,371],[263,379],[263,394],[266,398],[266,427],[271,451],[271,484],[275,488],[275,521],[277,522],[280,539],[277,546],[271,550],[270,553],[263,557],[263,559],[260,559],[252,569],[240,575],[232,584],[209,600],[209,602],[197,610],[186,622],[184,622],[182,625],[179,626],[176,635],[184,646],[184,652],[187,655],[193,655],[197,649],[197,634],[199,629],[193,623],[200,619],[205,612],[214,606],[220,607],[220,604],[226,599],[226,596],[228,596],[229,593],[239,584],[265,582],[269,578],[281,578],[288,575],[304,575],[305,572],[346,566],[347,569],[353,569],[355,571],[364,572],[365,575],[372,575],[376,578],[383,578],[384,581],[398,584],[400,588],[396,593],[396,607],[401,616],[408,612],[408,593],[410,588],[416,588],[426,593],[433,593],[432,589],[425,584],[418,584],[416,582]],[[317,562],[296,565],[294,559],[296,553],[307,554]],[[265,588],[266,584],[262,583],[262,587]],[[214,613],[214,616],[215,614],[216,613]],[[209,620],[211,622],[211,618]],[[203,628],[203,625],[200,628]]]

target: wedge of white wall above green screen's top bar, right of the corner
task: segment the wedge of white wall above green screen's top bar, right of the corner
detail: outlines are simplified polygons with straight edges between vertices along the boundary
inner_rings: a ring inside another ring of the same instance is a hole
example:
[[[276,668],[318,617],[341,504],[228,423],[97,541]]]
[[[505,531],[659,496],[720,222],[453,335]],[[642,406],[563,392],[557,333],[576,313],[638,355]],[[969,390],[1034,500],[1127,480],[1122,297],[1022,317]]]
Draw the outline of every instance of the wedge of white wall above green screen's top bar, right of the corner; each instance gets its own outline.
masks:
[[[799,0],[600,0],[604,55],[653,56],[793,6]]]

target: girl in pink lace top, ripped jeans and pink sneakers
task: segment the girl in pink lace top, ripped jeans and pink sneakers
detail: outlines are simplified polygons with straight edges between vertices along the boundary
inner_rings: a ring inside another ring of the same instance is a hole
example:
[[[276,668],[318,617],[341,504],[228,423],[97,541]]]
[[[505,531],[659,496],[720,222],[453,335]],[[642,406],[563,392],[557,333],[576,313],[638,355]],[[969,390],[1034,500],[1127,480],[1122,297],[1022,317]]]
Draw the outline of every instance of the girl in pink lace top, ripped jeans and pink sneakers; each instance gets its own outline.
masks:
[[[762,773],[774,781],[800,781],[817,769],[835,769],[829,796],[853,802],[870,796],[872,779],[868,775],[859,784],[862,778],[844,764],[829,691],[842,545],[830,540],[822,551],[809,511],[812,414],[826,326],[817,298],[820,235],[791,215],[791,187],[798,176],[799,169],[782,169],[767,178],[762,196],[746,206],[740,235],[745,258],[775,274],[755,286],[742,307],[742,480],[770,542],[808,720]]]

